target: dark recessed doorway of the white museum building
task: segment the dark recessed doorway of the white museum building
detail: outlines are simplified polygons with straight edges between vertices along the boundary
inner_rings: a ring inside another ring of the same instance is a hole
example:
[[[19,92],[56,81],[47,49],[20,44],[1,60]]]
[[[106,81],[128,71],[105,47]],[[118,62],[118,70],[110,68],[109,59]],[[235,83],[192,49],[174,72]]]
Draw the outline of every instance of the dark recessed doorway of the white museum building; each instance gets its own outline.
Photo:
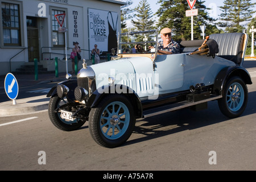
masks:
[[[28,61],[39,59],[39,36],[38,36],[38,19],[33,16],[27,16],[27,47]]]

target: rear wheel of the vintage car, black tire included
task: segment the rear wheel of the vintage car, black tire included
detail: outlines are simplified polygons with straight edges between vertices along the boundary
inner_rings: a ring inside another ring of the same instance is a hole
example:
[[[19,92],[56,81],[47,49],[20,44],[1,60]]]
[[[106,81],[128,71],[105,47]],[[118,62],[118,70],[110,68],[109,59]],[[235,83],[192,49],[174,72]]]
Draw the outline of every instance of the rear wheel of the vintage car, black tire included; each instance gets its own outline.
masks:
[[[236,118],[243,113],[248,101],[248,89],[240,77],[232,77],[226,82],[222,96],[218,100],[222,114]]]

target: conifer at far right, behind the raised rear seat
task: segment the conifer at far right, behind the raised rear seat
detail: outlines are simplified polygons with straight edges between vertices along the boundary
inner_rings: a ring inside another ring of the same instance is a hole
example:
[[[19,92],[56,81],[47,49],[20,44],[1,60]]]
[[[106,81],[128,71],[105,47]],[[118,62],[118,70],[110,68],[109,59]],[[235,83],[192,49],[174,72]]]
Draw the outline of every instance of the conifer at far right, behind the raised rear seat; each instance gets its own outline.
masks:
[[[251,0],[225,0],[224,6],[220,6],[220,20],[223,22],[218,23],[218,26],[225,27],[226,32],[242,32],[246,21],[250,21],[256,12],[252,9],[255,4]]]

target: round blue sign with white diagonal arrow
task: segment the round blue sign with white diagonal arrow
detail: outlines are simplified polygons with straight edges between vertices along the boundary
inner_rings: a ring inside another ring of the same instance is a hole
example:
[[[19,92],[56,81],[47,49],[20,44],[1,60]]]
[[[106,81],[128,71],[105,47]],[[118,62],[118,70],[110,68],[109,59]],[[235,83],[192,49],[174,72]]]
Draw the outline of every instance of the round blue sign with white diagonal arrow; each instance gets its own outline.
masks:
[[[5,92],[11,100],[15,100],[19,93],[18,81],[11,73],[5,77]]]

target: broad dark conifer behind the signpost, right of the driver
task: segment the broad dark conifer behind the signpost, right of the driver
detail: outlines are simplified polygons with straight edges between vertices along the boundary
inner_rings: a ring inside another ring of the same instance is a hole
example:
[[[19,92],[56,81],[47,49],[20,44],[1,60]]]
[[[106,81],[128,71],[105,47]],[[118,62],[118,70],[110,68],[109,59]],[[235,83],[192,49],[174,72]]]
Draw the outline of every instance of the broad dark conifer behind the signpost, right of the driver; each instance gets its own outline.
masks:
[[[186,0],[158,0],[160,8],[156,12],[159,16],[159,22],[156,24],[158,29],[164,27],[172,29],[172,37],[175,40],[191,40],[191,16],[185,16],[185,11],[190,10]],[[193,16],[193,37],[202,39],[200,25],[207,26],[206,35],[219,33],[220,30],[213,23],[215,19],[210,18],[204,1],[197,0],[195,8],[198,9],[198,15]]]

